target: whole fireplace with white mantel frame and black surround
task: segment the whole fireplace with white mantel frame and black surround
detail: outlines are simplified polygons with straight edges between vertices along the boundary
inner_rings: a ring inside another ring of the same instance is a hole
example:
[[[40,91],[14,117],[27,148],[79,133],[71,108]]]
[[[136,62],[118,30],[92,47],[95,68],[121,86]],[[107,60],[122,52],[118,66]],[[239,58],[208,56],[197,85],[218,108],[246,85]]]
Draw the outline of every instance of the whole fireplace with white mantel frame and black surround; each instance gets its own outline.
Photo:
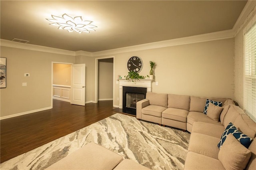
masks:
[[[126,79],[118,79],[118,81],[119,81],[119,108],[118,109],[120,109],[123,113],[136,115],[136,102],[142,99],[145,99],[147,91],[152,91],[153,80],[138,79],[134,81],[129,81]]]

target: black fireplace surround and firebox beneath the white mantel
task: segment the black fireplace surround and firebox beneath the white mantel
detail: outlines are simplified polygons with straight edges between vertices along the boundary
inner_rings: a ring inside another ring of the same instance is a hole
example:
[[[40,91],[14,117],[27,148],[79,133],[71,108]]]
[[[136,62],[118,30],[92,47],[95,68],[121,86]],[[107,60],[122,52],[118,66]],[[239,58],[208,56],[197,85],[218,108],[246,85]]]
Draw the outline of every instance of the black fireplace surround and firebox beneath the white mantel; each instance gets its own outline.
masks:
[[[146,87],[123,86],[123,112],[136,115],[136,103],[146,98]]]

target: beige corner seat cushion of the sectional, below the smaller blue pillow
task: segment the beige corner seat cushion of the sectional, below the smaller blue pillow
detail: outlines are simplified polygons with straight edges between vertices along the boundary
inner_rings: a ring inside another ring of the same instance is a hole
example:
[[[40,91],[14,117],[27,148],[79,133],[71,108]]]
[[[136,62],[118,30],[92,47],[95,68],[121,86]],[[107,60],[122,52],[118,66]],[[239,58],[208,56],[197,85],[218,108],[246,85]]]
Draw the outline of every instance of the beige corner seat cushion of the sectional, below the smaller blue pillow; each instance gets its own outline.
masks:
[[[188,123],[190,123],[191,125],[193,125],[194,122],[205,122],[205,123],[212,123],[215,125],[222,125],[220,122],[215,122],[214,120],[212,120],[210,117],[208,117],[206,114],[202,112],[191,111],[188,113],[187,119],[188,119],[187,120]]]

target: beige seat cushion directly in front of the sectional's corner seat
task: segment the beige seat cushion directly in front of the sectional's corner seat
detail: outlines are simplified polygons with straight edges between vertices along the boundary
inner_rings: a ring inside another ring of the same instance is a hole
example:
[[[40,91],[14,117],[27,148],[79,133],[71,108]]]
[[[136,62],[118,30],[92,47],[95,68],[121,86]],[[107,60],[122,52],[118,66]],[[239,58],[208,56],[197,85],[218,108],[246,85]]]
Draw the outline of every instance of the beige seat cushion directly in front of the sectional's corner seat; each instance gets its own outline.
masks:
[[[212,123],[194,122],[192,132],[206,134],[208,136],[221,138],[225,127],[222,125],[214,125]]]

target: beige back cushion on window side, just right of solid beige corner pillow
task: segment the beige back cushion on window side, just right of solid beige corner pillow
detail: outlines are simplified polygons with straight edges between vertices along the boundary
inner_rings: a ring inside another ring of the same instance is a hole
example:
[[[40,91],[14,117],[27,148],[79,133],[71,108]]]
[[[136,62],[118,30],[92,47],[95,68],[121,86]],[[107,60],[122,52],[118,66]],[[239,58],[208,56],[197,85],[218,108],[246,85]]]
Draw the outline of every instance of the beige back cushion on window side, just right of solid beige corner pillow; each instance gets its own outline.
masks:
[[[236,118],[240,114],[245,115],[244,111],[240,109],[240,107],[236,105],[230,105],[230,108],[224,117],[224,127],[226,128],[230,122],[234,124]]]

